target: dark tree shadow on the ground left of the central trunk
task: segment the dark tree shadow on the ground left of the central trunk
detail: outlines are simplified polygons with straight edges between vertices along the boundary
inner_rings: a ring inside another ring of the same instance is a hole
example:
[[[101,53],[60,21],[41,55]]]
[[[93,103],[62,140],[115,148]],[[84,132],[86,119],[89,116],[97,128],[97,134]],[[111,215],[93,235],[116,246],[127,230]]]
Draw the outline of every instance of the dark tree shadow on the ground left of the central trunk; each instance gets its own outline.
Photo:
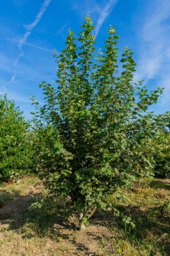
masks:
[[[17,197],[1,208],[0,221],[5,219],[9,221],[9,229],[13,230],[21,229],[26,223],[29,223],[34,233],[43,237],[47,229],[50,229],[59,220],[60,215],[58,214],[58,209],[54,209],[54,205],[52,207],[52,202],[44,203],[41,208],[37,207],[37,209],[31,210],[32,203],[36,203],[40,199],[39,193],[30,193]],[[13,205],[15,205],[14,209]],[[7,209],[10,209],[10,207],[11,211],[7,214]],[[61,221],[60,224],[66,227]]]

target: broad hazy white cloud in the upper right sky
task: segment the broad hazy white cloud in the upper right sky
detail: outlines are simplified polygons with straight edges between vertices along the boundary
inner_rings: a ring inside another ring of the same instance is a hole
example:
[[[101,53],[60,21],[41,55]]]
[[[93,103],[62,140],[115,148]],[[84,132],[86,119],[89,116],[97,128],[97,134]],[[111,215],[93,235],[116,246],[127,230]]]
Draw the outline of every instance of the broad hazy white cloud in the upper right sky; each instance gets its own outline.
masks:
[[[153,2],[152,2],[153,3]],[[140,58],[138,78],[155,78],[167,61],[170,29],[165,21],[170,18],[170,1],[156,0],[146,15],[142,28],[138,28]],[[151,11],[152,9],[152,11]]]

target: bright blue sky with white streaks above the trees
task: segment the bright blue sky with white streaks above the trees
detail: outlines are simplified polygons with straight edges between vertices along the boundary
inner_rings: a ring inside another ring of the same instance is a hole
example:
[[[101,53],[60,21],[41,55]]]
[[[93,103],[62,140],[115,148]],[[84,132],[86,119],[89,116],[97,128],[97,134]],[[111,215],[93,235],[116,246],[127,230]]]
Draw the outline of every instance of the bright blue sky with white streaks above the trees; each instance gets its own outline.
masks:
[[[134,79],[150,90],[165,87],[150,110],[170,110],[169,0],[5,0],[0,8],[0,94],[7,92],[30,118],[29,100],[42,102],[40,82],[52,84],[57,66],[54,49],[64,48],[67,29],[80,31],[89,12],[97,48],[103,48],[109,25],[120,36],[119,48],[132,49],[137,63]]]

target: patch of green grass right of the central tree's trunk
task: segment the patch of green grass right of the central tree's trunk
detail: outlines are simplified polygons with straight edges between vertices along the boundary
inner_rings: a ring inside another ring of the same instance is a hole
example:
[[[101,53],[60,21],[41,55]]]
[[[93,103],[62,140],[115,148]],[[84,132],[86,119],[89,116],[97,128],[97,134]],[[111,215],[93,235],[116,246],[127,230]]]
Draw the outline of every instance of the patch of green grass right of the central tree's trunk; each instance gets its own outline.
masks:
[[[126,190],[124,203],[119,203],[115,195],[109,197],[114,207],[130,217],[130,223],[122,221],[122,217],[116,219],[122,238],[116,239],[118,229],[112,227],[120,255],[170,255],[169,189],[169,183],[154,179]]]

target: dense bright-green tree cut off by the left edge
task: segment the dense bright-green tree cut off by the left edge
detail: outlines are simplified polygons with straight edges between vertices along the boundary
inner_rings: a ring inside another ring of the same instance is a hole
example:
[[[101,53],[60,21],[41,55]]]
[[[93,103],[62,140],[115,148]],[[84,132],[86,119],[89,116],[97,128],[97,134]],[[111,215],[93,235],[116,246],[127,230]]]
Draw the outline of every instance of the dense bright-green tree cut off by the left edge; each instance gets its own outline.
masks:
[[[29,124],[15,103],[0,96],[0,180],[32,167]]]

